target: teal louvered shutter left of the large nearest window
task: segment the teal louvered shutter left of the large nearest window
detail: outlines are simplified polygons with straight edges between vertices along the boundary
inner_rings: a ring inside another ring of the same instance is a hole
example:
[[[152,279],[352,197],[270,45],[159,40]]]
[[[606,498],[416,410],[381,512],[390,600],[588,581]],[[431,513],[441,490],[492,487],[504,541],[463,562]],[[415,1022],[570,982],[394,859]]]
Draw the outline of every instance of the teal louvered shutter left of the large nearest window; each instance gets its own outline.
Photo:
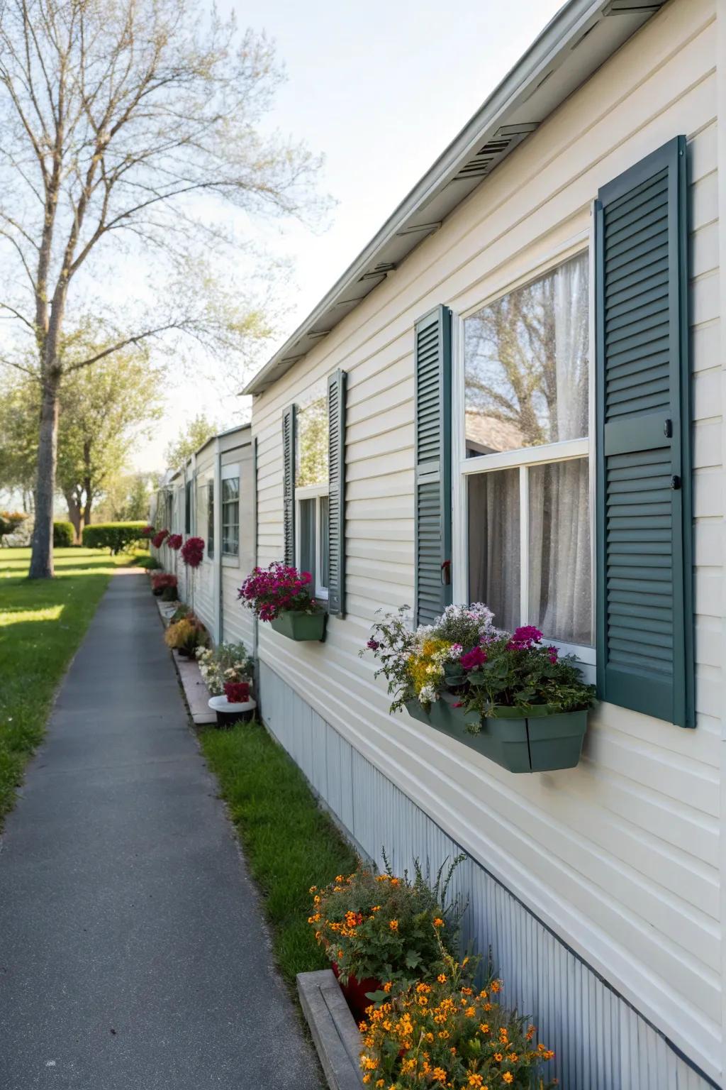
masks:
[[[415,327],[415,592],[417,625],[452,601],[452,312],[438,306]]]

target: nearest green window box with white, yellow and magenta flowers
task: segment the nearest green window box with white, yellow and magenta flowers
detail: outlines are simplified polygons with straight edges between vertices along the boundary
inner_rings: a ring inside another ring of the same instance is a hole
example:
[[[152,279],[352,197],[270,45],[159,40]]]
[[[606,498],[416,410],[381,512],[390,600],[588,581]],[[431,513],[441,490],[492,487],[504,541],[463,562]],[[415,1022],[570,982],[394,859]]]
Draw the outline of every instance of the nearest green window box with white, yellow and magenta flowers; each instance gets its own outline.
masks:
[[[377,623],[367,645],[392,712],[405,707],[509,772],[577,765],[594,687],[574,656],[561,657],[533,626],[500,631],[481,603],[448,606],[416,631],[406,609]]]

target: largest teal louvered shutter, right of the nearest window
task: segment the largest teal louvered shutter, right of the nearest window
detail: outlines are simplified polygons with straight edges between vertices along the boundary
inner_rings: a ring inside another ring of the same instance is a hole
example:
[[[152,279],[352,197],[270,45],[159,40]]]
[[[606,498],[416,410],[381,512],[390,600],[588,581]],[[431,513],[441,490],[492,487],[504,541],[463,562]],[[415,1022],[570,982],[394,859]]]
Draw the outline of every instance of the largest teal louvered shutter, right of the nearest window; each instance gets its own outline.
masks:
[[[694,726],[686,140],[595,204],[598,688]]]

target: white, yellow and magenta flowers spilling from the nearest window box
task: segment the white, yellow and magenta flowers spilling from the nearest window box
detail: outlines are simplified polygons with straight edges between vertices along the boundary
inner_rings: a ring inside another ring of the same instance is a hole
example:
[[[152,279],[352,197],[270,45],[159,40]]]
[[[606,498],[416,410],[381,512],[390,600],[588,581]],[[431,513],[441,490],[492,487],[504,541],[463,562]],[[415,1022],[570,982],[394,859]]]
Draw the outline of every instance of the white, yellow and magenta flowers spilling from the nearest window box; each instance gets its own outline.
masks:
[[[402,606],[373,626],[367,649],[381,663],[376,676],[387,680],[392,712],[413,700],[428,707],[443,693],[480,717],[502,706],[522,715],[537,705],[574,712],[594,699],[594,687],[582,681],[573,655],[561,657],[532,625],[514,632],[496,629],[492,611],[478,602],[448,606],[433,625],[415,631],[408,607]]]

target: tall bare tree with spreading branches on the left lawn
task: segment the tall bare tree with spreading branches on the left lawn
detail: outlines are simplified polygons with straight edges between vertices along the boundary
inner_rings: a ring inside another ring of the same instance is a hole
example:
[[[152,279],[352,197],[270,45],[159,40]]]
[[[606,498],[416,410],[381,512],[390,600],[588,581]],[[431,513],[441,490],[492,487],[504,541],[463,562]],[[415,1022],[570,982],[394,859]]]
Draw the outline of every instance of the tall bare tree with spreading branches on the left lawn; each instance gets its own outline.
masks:
[[[279,78],[263,36],[192,0],[7,0],[0,11],[1,360],[24,370],[32,338],[42,387],[32,578],[53,573],[67,370],[170,332],[231,349],[259,332],[229,292],[210,302],[195,268],[231,238],[210,199],[247,214],[315,206],[319,161],[260,124]],[[132,331],[64,367],[66,313],[77,318],[120,252],[153,268],[155,296],[137,327],[124,301]]]

